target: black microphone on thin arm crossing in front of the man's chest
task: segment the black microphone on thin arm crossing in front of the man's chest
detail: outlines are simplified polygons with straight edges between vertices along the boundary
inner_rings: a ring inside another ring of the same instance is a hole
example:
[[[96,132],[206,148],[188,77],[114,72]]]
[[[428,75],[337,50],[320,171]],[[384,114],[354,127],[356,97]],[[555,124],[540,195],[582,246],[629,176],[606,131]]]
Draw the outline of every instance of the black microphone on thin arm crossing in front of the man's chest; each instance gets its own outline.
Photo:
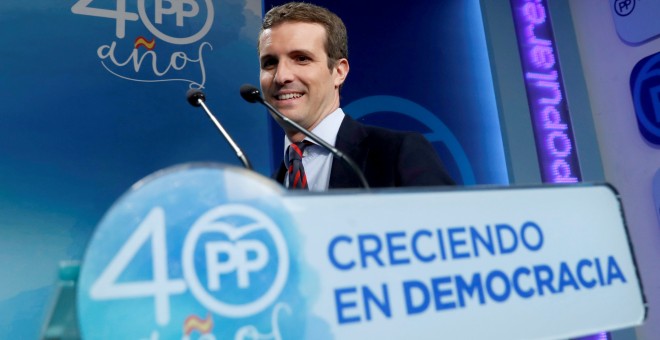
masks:
[[[344,161],[344,163],[346,163],[351,168],[351,170],[353,170],[353,172],[355,172],[355,174],[358,176],[360,182],[362,183],[362,186],[365,189],[369,189],[369,183],[367,183],[367,179],[364,177],[364,174],[357,166],[357,164],[355,164],[355,162],[350,157],[346,156],[343,152],[339,151],[334,146],[328,144],[328,142],[321,139],[321,137],[315,135],[311,131],[305,129],[304,127],[300,126],[298,123],[292,121],[291,119],[283,115],[276,108],[274,108],[272,105],[270,105],[268,102],[264,100],[258,88],[250,84],[245,84],[241,86],[241,97],[243,97],[243,99],[245,99],[249,103],[260,103],[261,105],[264,105],[266,108],[268,108],[268,110],[270,110],[270,112],[274,113],[278,118],[280,118],[286,124],[289,124],[289,126],[293,127],[297,131],[302,132],[303,135],[309,137],[309,139],[311,139],[314,143],[321,145],[322,147],[330,151],[330,153],[332,153],[335,157]]]

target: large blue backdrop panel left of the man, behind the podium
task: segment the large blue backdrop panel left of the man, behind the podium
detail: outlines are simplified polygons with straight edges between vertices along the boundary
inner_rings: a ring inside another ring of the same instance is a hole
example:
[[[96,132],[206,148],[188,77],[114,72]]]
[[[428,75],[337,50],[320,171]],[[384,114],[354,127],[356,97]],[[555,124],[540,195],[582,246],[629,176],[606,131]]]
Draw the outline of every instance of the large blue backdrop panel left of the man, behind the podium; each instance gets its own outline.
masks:
[[[195,0],[176,11],[167,1],[84,3],[0,2],[3,339],[38,337],[57,262],[80,259],[135,181],[183,162],[240,164],[186,102],[189,87],[204,85],[207,104],[269,172],[267,117],[238,94],[258,79],[261,1]]]

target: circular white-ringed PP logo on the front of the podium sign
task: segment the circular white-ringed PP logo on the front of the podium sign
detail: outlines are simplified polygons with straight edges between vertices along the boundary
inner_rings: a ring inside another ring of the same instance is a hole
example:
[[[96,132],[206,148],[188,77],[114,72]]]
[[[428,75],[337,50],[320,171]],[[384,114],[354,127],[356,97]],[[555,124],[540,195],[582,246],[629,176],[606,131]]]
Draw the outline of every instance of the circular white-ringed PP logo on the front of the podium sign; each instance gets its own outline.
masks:
[[[277,225],[244,205],[223,205],[202,215],[183,245],[183,272],[197,300],[217,314],[256,314],[277,299],[289,255]]]

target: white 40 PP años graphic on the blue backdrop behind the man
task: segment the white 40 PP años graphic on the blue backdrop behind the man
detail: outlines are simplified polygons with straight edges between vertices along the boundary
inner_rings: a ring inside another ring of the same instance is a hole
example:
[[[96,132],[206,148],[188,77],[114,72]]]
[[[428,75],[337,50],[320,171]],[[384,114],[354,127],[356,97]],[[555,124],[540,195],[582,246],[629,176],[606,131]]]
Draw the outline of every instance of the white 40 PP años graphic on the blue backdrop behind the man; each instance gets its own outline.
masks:
[[[114,39],[97,49],[101,64],[108,72],[136,82],[178,81],[189,83],[191,88],[204,87],[206,69],[203,54],[212,50],[213,46],[208,41],[200,40],[213,25],[211,0],[199,3],[195,0],[156,0],[149,6],[145,5],[145,0],[139,0],[134,9],[137,13],[128,9],[126,0],[117,0],[114,10],[92,7],[93,2],[78,0],[71,11],[101,20],[115,20]],[[172,23],[168,25],[168,21]],[[135,36],[134,39],[124,39],[128,38],[129,23],[129,32]],[[172,45],[184,45],[186,50],[176,49]],[[189,69],[195,69],[196,74],[191,75]]]

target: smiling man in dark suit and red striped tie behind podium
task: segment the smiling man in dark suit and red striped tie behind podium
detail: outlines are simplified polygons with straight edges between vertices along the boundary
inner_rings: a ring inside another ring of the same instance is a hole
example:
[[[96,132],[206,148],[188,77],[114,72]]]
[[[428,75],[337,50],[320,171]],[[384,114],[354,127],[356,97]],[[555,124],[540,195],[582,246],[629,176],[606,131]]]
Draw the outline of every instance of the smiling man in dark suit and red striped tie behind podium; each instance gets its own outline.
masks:
[[[275,7],[266,13],[258,48],[264,99],[353,159],[371,187],[454,183],[422,135],[366,126],[341,110],[348,44],[334,13],[307,3]],[[280,183],[310,190],[361,186],[344,162],[333,162],[327,150],[278,123],[286,134],[285,160],[275,174]]]

